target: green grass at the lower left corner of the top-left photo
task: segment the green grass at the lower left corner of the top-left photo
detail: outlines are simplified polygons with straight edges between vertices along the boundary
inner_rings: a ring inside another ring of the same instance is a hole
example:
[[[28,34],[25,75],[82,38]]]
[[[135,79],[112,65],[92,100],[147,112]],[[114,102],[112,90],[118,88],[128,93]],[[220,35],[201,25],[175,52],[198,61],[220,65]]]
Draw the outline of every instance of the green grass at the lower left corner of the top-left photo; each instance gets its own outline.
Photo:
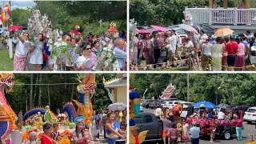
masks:
[[[0,70],[13,71],[13,59],[9,58],[7,50],[0,50]]]

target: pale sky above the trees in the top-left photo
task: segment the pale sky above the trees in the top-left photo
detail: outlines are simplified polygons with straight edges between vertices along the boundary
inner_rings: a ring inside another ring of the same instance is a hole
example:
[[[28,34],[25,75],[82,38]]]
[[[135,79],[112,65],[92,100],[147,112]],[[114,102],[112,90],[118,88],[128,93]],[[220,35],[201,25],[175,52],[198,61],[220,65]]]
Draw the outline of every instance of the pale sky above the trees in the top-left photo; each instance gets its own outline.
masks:
[[[1,1],[0,6],[4,7],[9,1]],[[4,4],[3,4],[4,3]],[[3,6],[4,5],[4,6]],[[15,10],[16,8],[27,9],[27,7],[35,6],[33,0],[10,0],[11,9]]]

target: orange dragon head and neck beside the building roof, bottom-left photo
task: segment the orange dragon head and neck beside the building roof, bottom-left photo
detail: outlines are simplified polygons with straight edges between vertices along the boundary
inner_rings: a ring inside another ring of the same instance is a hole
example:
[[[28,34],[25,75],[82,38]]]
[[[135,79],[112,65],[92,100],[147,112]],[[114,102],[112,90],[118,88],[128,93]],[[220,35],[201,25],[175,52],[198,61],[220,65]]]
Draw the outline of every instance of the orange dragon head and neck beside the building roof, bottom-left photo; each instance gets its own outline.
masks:
[[[90,125],[90,119],[93,115],[93,106],[90,99],[93,98],[95,93],[94,87],[97,85],[95,76],[96,74],[87,74],[82,81],[78,76],[79,85],[77,88],[80,95],[80,102],[73,100],[78,106],[77,114],[86,118],[86,125]]]

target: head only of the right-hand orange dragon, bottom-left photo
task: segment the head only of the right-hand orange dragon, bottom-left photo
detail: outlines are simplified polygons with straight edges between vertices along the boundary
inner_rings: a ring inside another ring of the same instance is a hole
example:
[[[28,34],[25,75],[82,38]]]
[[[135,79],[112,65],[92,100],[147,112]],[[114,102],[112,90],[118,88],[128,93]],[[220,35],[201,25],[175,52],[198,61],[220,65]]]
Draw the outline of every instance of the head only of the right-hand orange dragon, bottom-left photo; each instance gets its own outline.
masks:
[[[85,78],[80,80],[80,77],[78,76],[78,93],[81,94],[94,94],[95,93],[95,86],[97,85],[97,82],[95,82],[95,76],[96,74],[87,74]]]

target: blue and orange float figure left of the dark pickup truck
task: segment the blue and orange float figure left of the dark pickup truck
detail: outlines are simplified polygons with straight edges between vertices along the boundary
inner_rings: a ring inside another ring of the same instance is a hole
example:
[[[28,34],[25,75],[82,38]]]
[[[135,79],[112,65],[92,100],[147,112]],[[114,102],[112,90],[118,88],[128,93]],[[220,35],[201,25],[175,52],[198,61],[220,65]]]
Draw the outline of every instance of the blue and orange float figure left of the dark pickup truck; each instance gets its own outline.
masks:
[[[129,109],[130,109],[130,118],[129,118],[129,142],[133,144],[141,144],[145,141],[146,134],[148,130],[144,130],[138,134],[138,126],[136,126],[134,122],[134,117],[138,116],[140,113],[140,102],[141,102],[140,95],[137,91],[132,90],[130,87],[129,93]]]

